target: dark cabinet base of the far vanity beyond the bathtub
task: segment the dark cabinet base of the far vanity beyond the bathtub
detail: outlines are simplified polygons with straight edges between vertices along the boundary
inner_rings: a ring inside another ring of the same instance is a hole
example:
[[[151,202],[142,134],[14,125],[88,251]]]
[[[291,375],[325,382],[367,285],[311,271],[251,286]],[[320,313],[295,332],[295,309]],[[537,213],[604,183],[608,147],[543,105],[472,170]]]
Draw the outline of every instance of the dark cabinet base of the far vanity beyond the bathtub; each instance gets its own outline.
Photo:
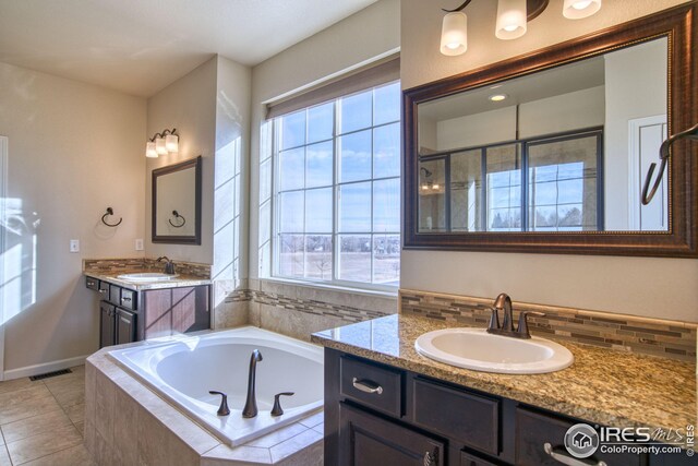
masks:
[[[134,290],[86,277],[101,295],[99,347],[210,327],[208,285]]]

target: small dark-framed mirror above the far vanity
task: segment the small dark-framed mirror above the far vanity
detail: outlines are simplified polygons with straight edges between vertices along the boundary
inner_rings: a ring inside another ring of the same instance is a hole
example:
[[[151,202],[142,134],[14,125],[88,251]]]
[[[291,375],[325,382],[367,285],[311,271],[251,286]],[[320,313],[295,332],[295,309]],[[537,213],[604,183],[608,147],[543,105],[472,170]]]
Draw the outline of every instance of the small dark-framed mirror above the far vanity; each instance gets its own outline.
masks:
[[[153,170],[153,242],[201,244],[198,156]]]

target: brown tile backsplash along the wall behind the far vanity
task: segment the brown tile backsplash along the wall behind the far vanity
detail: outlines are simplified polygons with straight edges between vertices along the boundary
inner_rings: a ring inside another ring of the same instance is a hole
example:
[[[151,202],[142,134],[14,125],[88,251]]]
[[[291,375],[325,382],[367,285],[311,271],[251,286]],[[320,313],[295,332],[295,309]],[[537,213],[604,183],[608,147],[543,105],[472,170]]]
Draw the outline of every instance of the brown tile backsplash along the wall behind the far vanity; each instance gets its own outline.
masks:
[[[172,260],[180,275],[210,279],[212,266],[195,262],[180,262]],[[83,273],[116,276],[139,272],[163,272],[164,265],[155,259],[85,259],[83,260]]]

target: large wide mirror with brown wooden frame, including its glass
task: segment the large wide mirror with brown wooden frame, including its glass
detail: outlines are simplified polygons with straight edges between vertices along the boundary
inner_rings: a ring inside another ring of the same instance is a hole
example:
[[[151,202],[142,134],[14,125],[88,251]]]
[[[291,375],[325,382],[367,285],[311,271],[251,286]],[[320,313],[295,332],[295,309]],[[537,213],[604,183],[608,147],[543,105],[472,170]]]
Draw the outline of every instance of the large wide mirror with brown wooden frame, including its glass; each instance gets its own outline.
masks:
[[[697,256],[696,10],[405,91],[405,248]]]

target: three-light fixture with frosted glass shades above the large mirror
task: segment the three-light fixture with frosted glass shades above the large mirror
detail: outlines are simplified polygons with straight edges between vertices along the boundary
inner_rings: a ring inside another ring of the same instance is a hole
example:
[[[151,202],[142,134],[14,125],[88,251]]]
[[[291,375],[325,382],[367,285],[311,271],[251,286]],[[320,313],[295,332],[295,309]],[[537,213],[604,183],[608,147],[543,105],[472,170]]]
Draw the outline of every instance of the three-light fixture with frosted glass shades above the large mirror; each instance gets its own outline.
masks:
[[[441,31],[441,52],[455,57],[468,50],[468,16],[462,10],[472,0],[466,0],[454,10],[446,12]],[[528,22],[538,17],[550,0],[498,0],[497,17],[494,35],[503,40],[510,40],[526,34]],[[581,20],[598,12],[601,0],[565,0],[563,16],[568,20]]]

